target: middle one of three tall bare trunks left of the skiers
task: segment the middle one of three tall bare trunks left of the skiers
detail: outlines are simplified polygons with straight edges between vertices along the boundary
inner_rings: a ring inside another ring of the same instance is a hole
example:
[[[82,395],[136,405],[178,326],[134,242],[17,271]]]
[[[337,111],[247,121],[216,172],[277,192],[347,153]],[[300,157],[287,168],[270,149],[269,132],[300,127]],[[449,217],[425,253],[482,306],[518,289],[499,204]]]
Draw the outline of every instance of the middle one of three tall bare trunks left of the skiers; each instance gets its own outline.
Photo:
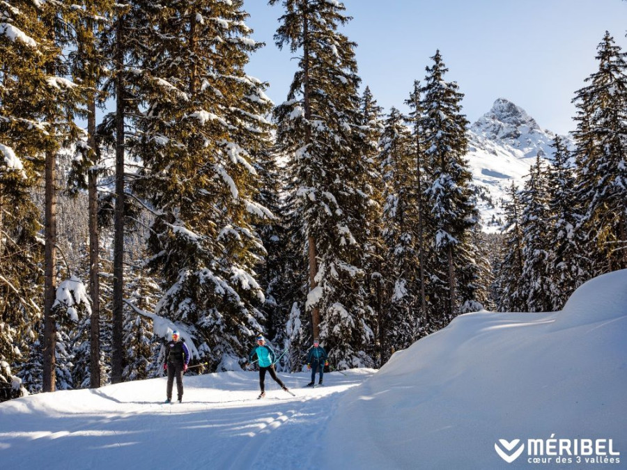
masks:
[[[98,155],[95,143],[95,97],[92,93],[88,98],[87,132],[88,143],[92,155]],[[95,164],[97,159],[93,159]],[[89,348],[89,386],[97,389],[101,384],[100,377],[100,272],[98,264],[98,171],[88,170],[88,197],[89,197],[89,292],[91,295],[91,331]]]

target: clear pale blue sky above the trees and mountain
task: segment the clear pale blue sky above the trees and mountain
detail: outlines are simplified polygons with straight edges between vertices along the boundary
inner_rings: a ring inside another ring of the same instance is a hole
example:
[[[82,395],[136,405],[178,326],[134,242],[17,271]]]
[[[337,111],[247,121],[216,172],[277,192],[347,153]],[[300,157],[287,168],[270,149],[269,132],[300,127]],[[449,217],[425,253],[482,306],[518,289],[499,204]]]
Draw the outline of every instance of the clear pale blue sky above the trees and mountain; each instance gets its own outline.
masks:
[[[282,2],[281,2],[282,3]],[[424,78],[440,49],[465,94],[470,122],[504,97],[533,116],[544,129],[574,129],[574,92],[597,68],[596,47],[605,31],[627,52],[627,1],[623,0],[343,0],[353,21],[341,29],[357,42],[362,86],[380,106],[406,111],[415,79]],[[295,72],[288,49],[272,36],[280,5],[245,0],[252,37],[266,46],[247,72],[270,82],[268,96],[283,102]]]

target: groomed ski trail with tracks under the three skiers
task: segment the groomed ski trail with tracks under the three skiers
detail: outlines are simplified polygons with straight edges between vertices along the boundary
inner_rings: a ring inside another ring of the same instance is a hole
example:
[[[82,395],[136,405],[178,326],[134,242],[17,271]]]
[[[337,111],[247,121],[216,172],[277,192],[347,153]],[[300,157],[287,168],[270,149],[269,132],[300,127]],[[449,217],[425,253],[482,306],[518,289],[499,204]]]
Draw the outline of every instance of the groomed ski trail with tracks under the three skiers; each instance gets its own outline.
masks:
[[[257,373],[185,377],[183,403],[171,405],[162,401],[164,378],[143,381],[141,397],[127,396],[125,384],[57,392],[44,407],[25,400],[15,418],[0,423],[0,461],[3,468],[49,470],[319,468],[334,402],[371,373],[325,374],[327,385],[315,389],[302,388],[309,373],[281,373],[296,396],[270,379],[261,400]],[[79,397],[92,406],[81,407]],[[84,460],[76,462],[68,448],[82,448]]]

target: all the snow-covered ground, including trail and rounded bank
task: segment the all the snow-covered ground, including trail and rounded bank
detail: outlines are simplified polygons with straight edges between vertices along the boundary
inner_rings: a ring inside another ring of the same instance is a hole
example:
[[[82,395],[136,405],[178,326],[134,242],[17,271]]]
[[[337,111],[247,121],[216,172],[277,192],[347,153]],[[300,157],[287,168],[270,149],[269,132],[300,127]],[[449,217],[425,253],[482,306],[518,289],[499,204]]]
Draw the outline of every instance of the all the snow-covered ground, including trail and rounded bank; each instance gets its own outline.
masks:
[[[242,371],[185,377],[175,405],[165,379],[4,402],[1,468],[626,468],[626,338],[624,270],[564,311],[462,315],[378,372],[281,374],[296,397]]]

